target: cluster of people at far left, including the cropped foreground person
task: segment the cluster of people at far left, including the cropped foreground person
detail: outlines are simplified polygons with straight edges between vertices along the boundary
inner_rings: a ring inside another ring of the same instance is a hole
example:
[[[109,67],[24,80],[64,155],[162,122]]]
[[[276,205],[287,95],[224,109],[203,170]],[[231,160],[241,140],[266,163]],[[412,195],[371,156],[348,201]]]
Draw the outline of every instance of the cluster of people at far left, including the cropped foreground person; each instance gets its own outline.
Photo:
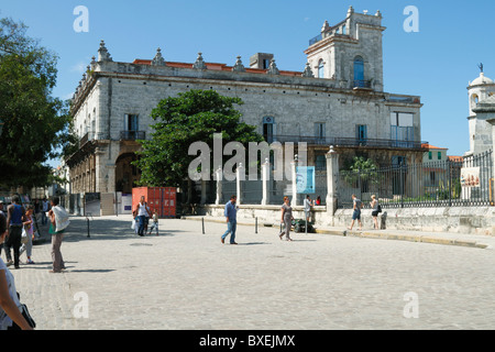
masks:
[[[51,273],[61,273],[65,268],[61,245],[64,231],[70,223],[67,211],[58,204],[59,199],[55,197],[51,201],[50,209],[47,205],[41,209],[47,210],[42,213],[42,219],[46,217],[46,221],[42,220],[42,226],[50,223],[48,232],[52,234],[53,268],[50,271]],[[23,238],[26,239],[26,264],[34,264],[31,260],[31,252],[36,208],[34,205],[22,206],[18,195],[12,197],[12,204],[8,206],[7,215],[3,211],[3,204],[0,202],[0,254],[4,249],[7,257],[6,264],[0,256],[0,330],[32,330],[33,326],[23,315],[14,277],[8,266],[13,264],[14,268],[20,268],[20,250]],[[11,250],[13,250],[13,260]]]

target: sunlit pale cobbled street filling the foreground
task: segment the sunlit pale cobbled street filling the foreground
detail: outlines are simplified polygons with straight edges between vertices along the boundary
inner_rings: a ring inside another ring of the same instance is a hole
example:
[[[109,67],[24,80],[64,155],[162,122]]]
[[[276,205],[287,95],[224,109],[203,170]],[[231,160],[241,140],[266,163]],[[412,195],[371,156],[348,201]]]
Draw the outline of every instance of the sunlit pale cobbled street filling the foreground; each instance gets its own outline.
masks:
[[[129,216],[72,218],[67,270],[51,245],[12,270],[41,330],[493,329],[495,255],[487,249],[161,220],[139,238]],[[25,260],[23,256],[21,260]],[[409,300],[411,299],[411,300]],[[87,318],[85,318],[87,314]],[[409,318],[407,318],[409,317]]]

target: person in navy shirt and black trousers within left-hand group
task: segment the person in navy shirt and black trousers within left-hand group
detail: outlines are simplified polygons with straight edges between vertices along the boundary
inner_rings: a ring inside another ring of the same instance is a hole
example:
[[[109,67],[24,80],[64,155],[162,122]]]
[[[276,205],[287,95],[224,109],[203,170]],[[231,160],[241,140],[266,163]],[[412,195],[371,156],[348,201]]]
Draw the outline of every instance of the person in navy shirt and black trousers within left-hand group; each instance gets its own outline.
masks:
[[[22,223],[24,221],[25,209],[20,205],[21,200],[18,195],[12,197],[12,204],[7,208],[7,240],[3,248],[6,249],[7,266],[12,265],[12,256],[10,249],[13,249],[15,268],[19,268],[19,256],[22,240]]]

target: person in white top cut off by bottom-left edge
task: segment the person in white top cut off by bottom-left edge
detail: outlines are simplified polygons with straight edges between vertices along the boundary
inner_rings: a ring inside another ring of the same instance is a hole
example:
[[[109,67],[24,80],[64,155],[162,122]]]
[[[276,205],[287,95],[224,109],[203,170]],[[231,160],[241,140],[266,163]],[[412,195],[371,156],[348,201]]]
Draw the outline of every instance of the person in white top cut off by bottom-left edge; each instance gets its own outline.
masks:
[[[0,216],[0,244],[7,237],[7,219]],[[33,330],[21,314],[18,292],[12,273],[0,257],[0,330],[7,330],[15,323],[22,330]]]

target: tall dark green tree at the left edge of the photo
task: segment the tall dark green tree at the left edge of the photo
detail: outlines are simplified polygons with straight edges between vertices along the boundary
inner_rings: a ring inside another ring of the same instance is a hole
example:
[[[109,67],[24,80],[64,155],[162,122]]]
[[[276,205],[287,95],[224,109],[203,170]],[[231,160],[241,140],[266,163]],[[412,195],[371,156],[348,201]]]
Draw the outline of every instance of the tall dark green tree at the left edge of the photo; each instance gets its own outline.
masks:
[[[51,96],[57,57],[26,35],[26,26],[0,19],[0,183],[43,186],[50,183],[45,163],[67,143],[67,105]]]

